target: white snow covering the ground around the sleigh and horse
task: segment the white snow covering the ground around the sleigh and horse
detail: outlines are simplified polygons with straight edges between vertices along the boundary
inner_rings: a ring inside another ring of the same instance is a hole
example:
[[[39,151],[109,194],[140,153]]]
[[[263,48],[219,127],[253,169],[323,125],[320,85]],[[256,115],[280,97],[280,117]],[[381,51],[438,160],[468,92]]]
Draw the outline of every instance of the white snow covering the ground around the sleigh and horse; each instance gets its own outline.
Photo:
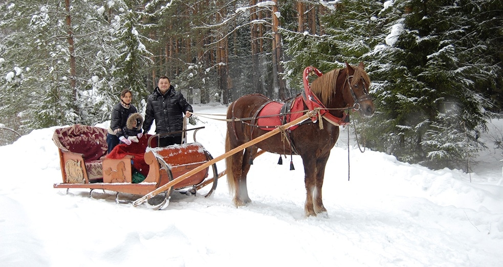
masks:
[[[223,106],[194,106],[225,114]],[[200,115],[196,139],[224,153],[225,122]],[[218,117],[221,118],[221,117]],[[99,125],[103,127],[108,122]],[[495,121],[490,129],[502,129]],[[61,182],[54,130],[34,130],[0,147],[0,265],[7,266],[502,266],[501,151],[473,173],[406,164],[349,149],[346,129],[326,167],[328,217],[304,217],[303,168],[294,156],[257,157],[248,177],[252,203],[231,203],[226,177],[209,198],[173,193],[155,211],[116,204],[113,192],[53,188]],[[354,135],[351,132],[351,135]],[[192,137],[192,134],[189,134]],[[217,163],[218,171],[224,163]],[[136,200],[141,196],[122,196]]]

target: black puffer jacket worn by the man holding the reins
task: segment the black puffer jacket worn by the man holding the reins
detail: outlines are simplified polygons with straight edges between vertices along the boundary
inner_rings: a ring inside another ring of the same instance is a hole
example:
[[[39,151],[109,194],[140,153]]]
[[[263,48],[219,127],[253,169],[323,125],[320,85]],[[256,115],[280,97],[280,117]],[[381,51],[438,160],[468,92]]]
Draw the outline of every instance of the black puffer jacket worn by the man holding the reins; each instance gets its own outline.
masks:
[[[150,130],[154,119],[157,134],[180,131],[183,127],[183,116],[187,111],[193,112],[193,109],[181,92],[174,90],[171,85],[168,91],[162,94],[157,87],[147,99],[143,132]]]

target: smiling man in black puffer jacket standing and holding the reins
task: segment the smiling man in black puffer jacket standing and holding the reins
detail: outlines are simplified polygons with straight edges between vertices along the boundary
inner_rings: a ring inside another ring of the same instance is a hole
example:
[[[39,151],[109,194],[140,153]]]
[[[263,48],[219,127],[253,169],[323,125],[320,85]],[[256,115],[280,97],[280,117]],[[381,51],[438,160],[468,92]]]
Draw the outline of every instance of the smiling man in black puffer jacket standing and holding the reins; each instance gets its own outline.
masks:
[[[190,117],[193,112],[192,106],[187,103],[181,92],[174,89],[168,77],[159,78],[157,85],[158,87],[147,99],[143,133],[146,134],[150,130],[154,119],[156,120],[156,134],[181,131],[183,114]],[[182,133],[159,138],[159,147],[181,143]]]

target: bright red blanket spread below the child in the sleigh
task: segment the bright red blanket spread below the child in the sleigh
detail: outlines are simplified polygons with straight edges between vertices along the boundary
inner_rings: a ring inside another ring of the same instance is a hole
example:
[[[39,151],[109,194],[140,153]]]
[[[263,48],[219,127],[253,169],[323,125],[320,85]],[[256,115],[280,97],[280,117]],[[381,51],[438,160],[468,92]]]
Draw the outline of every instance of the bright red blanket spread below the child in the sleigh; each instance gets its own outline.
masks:
[[[120,143],[110,152],[110,154],[106,155],[106,157],[111,159],[121,159],[126,155],[135,156],[133,158],[133,167],[146,177],[148,175],[149,166],[145,163],[144,156],[148,145],[148,137],[150,137],[150,135],[143,135],[142,138],[139,139],[138,143],[132,142],[130,145]]]

